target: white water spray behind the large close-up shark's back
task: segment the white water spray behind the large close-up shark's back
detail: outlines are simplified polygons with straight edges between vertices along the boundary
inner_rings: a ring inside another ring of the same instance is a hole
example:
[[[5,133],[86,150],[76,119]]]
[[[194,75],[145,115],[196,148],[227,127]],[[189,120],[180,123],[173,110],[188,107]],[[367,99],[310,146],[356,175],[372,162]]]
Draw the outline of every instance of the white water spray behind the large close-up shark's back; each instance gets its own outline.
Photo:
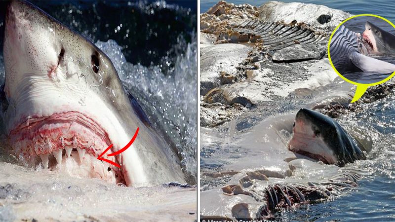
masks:
[[[197,37],[192,43],[180,40],[171,50],[181,51],[171,72],[163,74],[163,65],[145,67],[128,63],[122,47],[114,40],[96,45],[109,56],[120,79],[139,101],[154,127],[167,137],[182,157],[187,181],[197,182]],[[166,59],[166,58],[163,58]]]

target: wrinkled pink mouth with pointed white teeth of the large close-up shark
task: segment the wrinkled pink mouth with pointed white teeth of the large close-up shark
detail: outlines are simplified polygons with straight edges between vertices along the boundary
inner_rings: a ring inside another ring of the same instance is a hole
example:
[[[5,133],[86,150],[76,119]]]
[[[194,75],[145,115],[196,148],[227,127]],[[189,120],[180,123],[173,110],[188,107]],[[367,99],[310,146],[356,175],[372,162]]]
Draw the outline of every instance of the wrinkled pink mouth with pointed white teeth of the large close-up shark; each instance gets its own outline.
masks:
[[[97,159],[111,145],[107,132],[80,112],[26,118],[10,131],[9,144],[27,166],[125,184],[120,168]]]

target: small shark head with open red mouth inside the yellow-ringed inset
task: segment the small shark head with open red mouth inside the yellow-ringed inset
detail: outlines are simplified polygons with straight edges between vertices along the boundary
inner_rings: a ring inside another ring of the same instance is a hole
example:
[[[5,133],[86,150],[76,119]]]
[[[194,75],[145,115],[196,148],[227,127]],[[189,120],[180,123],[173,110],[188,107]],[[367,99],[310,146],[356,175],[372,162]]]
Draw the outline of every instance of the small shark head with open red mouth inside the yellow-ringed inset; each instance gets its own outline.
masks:
[[[369,21],[366,21],[362,39],[370,53],[394,53],[395,36]]]

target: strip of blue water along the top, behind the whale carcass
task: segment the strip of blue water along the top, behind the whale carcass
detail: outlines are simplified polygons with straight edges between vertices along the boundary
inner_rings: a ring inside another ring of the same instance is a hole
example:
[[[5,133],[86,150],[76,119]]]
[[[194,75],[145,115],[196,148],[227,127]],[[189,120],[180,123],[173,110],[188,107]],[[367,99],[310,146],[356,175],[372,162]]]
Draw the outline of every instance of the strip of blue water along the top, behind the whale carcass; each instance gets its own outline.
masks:
[[[268,0],[227,0],[235,4],[248,3],[260,6]],[[283,2],[295,2],[298,0],[281,0]],[[200,0],[200,13],[206,12],[210,7],[216,4],[218,0]],[[299,2],[314,3],[326,5],[330,8],[341,9],[351,14],[376,14],[382,16],[391,22],[395,22],[395,4],[392,0],[300,0]]]

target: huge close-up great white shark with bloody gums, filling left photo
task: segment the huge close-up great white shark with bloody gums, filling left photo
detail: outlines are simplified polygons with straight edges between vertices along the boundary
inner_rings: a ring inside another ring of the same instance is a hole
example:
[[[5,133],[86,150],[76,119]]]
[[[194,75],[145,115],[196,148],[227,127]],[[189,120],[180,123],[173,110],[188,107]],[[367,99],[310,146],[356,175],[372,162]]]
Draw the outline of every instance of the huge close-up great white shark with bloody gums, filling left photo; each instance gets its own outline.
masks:
[[[185,183],[180,160],[92,42],[26,1],[6,10],[2,128],[27,166],[128,186]],[[130,148],[116,156],[139,131]],[[120,168],[98,160],[104,154]]]

